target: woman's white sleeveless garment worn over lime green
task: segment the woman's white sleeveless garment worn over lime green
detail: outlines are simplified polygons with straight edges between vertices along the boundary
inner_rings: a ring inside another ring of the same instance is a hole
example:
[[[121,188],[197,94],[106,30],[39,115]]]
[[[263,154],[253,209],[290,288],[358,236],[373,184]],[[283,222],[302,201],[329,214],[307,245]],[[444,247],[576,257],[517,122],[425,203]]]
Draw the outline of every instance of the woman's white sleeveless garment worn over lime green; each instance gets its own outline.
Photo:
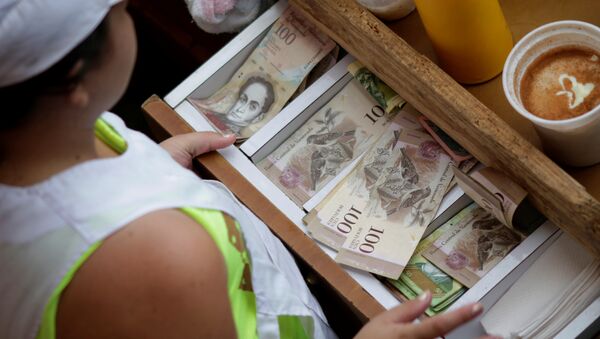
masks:
[[[28,187],[0,184],[0,338],[35,338],[50,295],[90,248],[151,211],[197,207],[236,219],[252,258],[258,334],[277,338],[278,315],[311,317],[315,338],[333,338],[292,258],[264,223],[222,184],[198,178],[112,113],[102,118],[127,142]]]

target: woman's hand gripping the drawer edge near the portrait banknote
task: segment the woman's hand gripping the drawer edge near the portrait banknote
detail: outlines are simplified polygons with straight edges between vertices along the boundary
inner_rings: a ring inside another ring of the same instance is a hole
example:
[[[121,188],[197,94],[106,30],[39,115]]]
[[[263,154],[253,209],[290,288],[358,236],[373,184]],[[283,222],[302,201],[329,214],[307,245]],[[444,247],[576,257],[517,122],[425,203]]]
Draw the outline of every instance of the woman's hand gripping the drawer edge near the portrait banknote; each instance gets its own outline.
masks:
[[[200,154],[232,145],[235,135],[220,135],[215,132],[180,134],[160,143],[181,166],[191,169],[192,160]]]

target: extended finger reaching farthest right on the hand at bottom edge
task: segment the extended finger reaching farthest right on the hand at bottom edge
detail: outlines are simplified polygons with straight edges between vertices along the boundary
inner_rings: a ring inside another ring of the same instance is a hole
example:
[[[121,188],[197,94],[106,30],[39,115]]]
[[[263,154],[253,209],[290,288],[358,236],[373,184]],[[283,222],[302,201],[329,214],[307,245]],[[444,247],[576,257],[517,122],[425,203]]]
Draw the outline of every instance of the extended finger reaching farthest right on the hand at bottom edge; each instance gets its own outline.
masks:
[[[410,337],[435,338],[443,336],[462,324],[476,318],[483,311],[479,303],[463,306],[457,310],[446,312],[423,320],[418,324],[409,325]]]

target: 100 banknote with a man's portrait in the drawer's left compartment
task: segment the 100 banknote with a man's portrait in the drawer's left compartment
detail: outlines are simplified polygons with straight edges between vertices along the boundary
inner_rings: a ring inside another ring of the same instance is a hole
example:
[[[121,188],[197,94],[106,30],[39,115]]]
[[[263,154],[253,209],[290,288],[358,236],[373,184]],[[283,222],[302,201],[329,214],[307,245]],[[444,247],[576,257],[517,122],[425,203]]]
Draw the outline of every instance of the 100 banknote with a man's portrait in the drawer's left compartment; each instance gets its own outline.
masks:
[[[217,130],[250,137],[271,120],[307,74],[335,47],[289,7],[225,86],[208,98],[188,101]]]

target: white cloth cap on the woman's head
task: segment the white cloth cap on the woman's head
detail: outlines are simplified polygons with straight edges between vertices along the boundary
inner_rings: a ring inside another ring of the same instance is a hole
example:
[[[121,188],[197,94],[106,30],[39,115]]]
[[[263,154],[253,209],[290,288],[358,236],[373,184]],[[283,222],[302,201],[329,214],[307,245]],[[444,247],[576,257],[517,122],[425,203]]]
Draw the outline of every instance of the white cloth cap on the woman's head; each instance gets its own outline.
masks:
[[[0,0],[0,87],[49,69],[121,0]]]

